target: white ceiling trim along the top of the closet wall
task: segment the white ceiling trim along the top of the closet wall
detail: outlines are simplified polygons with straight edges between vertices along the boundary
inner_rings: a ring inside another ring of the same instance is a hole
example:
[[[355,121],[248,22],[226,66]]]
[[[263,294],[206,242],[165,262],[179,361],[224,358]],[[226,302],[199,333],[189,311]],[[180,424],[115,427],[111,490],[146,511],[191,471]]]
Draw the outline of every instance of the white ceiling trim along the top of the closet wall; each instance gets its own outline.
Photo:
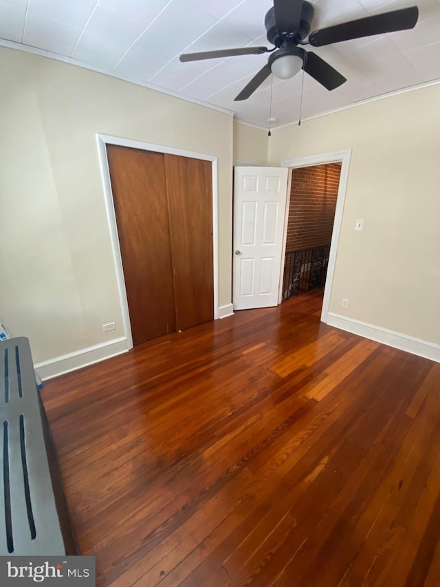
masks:
[[[185,102],[197,104],[210,110],[217,110],[219,112],[223,112],[223,114],[230,114],[230,116],[234,116],[235,114],[232,110],[228,110],[227,108],[222,108],[221,106],[216,106],[214,104],[207,104],[206,102],[203,102],[203,100],[197,100],[197,98],[191,98],[190,96],[182,96],[182,94],[179,94],[179,92],[173,92],[172,89],[165,89],[163,87],[158,87],[152,83],[147,83],[144,81],[135,81],[130,78],[126,78],[120,74],[115,74],[115,72],[104,70],[102,67],[96,67],[94,65],[90,65],[89,63],[78,61],[77,59],[74,59],[72,57],[66,57],[64,55],[59,55],[58,53],[52,53],[44,49],[38,49],[37,47],[30,47],[30,45],[21,45],[21,43],[16,43],[15,41],[5,41],[5,39],[0,39],[0,47],[7,47],[8,49],[17,49],[18,51],[23,51],[25,53],[32,53],[34,55],[48,57],[50,59],[54,59],[55,61],[61,61],[63,63],[68,63],[69,65],[76,65],[76,67],[81,67],[84,70],[96,72],[97,74],[103,74],[104,76],[116,78],[118,80],[126,81],[128,83],[133,83],[134,85],[140,85],[141,87],[145,87],[146,89],[152,89],[154,92],[159,92],[159,94],[173,96],[173,98],[179,98],[179,100],[184,100]]]

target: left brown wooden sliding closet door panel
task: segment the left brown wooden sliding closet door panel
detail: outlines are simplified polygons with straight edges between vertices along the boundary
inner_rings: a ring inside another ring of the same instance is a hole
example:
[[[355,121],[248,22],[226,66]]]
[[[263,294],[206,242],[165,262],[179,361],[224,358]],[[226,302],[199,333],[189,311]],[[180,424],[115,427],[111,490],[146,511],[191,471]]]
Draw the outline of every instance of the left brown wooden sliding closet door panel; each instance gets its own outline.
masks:
[[[176,330],[163,153],[107,146],[133,344]]]

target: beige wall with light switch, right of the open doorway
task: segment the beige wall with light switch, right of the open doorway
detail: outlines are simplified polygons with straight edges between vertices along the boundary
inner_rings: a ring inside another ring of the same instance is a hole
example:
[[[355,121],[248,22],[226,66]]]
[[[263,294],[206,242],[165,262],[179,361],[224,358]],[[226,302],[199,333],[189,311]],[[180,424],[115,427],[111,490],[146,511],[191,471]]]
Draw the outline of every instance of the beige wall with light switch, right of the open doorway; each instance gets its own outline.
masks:
[[[271,165],[353,149],[330,312],[435,344],[439,129],[440,85],[432,85],[278,129],[269,142]]]

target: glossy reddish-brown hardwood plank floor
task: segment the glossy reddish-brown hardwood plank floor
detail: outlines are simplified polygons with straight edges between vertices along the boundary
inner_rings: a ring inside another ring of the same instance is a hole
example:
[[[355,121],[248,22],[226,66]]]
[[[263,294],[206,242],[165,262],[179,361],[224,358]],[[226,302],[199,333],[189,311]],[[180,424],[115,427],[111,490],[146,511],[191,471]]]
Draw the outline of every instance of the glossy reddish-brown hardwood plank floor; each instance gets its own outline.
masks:
[[[48,381],[98,587],[440,584],[440,364],[321,292]]]

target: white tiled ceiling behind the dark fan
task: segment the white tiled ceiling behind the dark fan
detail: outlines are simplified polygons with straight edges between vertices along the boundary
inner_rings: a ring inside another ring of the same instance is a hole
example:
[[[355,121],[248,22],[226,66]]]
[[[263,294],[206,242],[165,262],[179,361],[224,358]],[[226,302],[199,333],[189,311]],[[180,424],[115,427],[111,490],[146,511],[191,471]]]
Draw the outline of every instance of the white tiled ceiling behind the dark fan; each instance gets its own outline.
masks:
[[[294,1],[294,0],[293,0]],[[413,30],[314,48],[347,78],[329,92],[298,74],[267,78],[248,99],[234,97],[266,55],[181,63],[179,54],[247,45],[270,46],[264,17],[272,0],[0,0],[0,38],[229,109],[267,127],[272,87],[276,125],[440,78],[440,0],[311,0],[312,30],[419,6]]]

